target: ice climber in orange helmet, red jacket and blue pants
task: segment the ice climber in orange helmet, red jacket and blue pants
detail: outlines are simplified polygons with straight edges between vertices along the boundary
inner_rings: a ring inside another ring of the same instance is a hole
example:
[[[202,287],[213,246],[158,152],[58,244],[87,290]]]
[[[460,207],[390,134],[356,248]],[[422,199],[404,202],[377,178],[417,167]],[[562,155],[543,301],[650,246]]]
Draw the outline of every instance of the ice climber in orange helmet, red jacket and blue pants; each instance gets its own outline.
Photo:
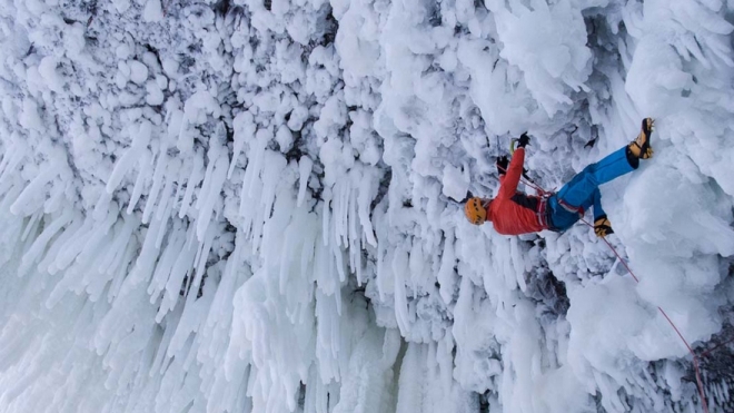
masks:
[[[490,220],[495,230],[505,235],[543,229],[564,232],[583,217],[584,210],[593,206],[594,233],[599,237],[613,234],[609,219],[602,208],[598,186],[637,169],[639,159],[653,156],[653,148],[649,146],[653,126],[653,119],[643,119],[642,130],[635,140],[584,168],[559,191],[540,196],[517,191],[523,174],[525,146],[530,141],[530,138],[523,134],[509,167],[507,157],[497,158],[499,194],[494,199],[469,198],[464,205],[466,218],[475,225]]]

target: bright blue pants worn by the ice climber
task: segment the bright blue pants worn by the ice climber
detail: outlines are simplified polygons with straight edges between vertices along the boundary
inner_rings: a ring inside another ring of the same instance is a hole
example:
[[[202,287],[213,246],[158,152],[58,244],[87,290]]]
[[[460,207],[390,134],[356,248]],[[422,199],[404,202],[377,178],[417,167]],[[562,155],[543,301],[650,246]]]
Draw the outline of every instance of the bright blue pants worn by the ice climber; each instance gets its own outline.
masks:
[[[548,198],[550,229],[566,230],[581,218],[577,212],[569,209],[587,210],[594,206],[594,219],[606,215],[602,208],[602,194],[598,186],[637,168],[637,165],[632,166],[627,160],[626,150],[627,148],[624,147],[598,163],[587,166],[564,185],[557,194]],[[561,205],[559,199],[571,208]]]

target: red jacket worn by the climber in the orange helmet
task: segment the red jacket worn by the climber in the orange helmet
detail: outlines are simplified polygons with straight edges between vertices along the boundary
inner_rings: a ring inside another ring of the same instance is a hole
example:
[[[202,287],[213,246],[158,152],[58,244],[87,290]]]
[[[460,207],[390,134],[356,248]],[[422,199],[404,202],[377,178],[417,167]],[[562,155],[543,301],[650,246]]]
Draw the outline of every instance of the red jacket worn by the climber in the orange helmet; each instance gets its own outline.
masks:
[[[507,174],[499,176],[499,195],[487,206],[487,220],[492,220],[499,234],[519,235],[547,229],[538,222],[540,197],[517,191],[524,161],[525,148],[517,148]]]

